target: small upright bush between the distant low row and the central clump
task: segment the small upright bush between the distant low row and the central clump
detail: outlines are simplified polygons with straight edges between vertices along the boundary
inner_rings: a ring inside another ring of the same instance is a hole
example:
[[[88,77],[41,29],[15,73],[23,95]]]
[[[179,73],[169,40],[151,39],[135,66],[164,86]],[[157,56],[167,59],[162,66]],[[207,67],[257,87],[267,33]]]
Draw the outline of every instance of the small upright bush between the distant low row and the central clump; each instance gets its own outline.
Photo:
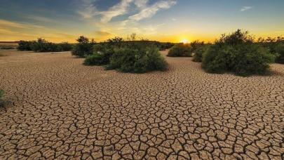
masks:
[[[89,41],[85,36],[80,36],[76,41],[78,41],[78,44],[74,46],[72,55],[75,55],[78,58],[84,58],[87,55],[93,54],[93,45],[95,44],[93,39],[92,41]]]

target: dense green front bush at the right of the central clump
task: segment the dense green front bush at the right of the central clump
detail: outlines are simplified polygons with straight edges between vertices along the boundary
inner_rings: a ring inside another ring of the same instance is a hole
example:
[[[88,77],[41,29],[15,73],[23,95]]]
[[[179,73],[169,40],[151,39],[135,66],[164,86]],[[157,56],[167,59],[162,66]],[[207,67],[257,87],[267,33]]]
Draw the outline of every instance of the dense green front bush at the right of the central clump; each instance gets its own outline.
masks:
[[[165,71],[168,69],[168,63],[158,53],[158,48],[144,48],[142,50],[118,48],[111,56],[107,69],[133,73]]]

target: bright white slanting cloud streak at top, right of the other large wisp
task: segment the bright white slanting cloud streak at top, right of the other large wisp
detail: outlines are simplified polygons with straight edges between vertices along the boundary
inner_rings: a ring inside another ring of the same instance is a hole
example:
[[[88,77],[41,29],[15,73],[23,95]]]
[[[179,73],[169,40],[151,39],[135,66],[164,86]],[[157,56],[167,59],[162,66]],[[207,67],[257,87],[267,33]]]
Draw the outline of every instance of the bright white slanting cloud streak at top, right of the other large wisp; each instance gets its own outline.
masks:
[[[158,1],[156,4],[153,4],[152,6],[148,6],[147,8],[142,9],[140,13],[137,13],[135,15],[131,15],[129,17],[130,20],[142,20],[144,18],[150,18],[153,15],[155,15],[158,11],[161,9],[167,9],[171,6],[175,5],[177,3],[176,0],[167,0],[167,1]]]

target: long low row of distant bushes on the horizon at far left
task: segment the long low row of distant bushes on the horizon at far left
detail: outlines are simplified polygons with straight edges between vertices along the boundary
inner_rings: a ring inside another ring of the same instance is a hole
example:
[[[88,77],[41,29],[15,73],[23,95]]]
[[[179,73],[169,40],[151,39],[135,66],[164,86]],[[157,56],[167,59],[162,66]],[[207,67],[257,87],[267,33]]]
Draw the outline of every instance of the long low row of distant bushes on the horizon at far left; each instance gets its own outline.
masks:
[[[62,42],[61,44],[54,44],[45,39],[37,39],[37,41],[20,41],[18,43],[19,51],[34,51],[34,52],[62,52],[71,51],[72,44]]]

